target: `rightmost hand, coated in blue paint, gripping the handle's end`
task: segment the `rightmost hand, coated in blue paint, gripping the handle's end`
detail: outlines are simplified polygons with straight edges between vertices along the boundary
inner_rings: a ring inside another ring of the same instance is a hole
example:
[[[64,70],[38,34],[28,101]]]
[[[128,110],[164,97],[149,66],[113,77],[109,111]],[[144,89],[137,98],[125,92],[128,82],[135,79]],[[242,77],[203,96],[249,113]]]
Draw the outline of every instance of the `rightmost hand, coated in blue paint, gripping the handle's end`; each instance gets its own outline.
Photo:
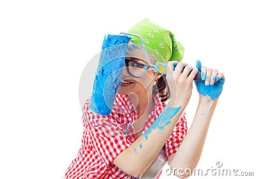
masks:
[[[196,61],[196,68],[201,71],[201,79],[205,80],[204,83],[195,82],[198,92],[212,100],[218,99],[225,82],[223,73],[219,73],[217,69],[202,66],[200,61]]]

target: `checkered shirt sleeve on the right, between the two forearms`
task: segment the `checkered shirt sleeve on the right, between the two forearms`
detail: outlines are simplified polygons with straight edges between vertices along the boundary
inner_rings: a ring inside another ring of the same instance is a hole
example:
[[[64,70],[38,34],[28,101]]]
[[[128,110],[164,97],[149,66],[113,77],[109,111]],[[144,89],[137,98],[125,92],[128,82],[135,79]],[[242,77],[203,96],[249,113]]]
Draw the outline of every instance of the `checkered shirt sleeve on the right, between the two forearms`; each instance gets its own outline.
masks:
[[[172,154],[175,154],[180,147],[180,144],[184,140],[188,127],[187,127],[187,120],[185,117],[186,113],[183,113],[177,124],[175,125],[170,137],[166,140],[165,143],[165,155],[169,158]]]

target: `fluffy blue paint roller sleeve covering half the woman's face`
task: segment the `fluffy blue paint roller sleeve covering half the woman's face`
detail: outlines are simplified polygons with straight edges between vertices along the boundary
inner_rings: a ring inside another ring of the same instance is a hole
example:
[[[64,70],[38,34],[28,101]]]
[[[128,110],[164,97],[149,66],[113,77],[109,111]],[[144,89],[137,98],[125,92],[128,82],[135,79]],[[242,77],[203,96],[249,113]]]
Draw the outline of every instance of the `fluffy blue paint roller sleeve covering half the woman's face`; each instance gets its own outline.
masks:
[[[89,108],[99,115],[109,115],[116,96],[125,64],[130,37],[111,35],[104,37],[102,52],[95,74]]]

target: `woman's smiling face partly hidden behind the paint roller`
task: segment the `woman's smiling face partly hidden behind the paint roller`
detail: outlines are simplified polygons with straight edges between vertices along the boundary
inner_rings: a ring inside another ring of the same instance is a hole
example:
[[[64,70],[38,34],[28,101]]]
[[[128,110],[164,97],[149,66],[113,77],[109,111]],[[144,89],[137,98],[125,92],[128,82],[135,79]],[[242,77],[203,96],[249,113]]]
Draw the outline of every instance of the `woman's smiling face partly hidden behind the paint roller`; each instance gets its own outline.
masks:
[[[145,66],[149,66],[143,48],[138,45],[134,45],[134,43],[129,43],[129,48],[127,50],[127,56],[125,59],[136,61],[140,64],[144,64]],[[148,59],[152,64],[156,63],[150,54],[148,54]],[[145,71],[143,77],[136,78],[129,74],[127,68],[128,67],[125,65],[122,73],[122,82],[120,83],[120,86],[117,90],[118,94],[129,95],[131,93],[136,93],[138,96],[147,96],[148,92],[150,92],[149,94],[152,94],[152,87],[154,82],[161,75],[154,73],[154,68],[149,68],[147,71]],[[131,67],[129,69],[131,69]]]

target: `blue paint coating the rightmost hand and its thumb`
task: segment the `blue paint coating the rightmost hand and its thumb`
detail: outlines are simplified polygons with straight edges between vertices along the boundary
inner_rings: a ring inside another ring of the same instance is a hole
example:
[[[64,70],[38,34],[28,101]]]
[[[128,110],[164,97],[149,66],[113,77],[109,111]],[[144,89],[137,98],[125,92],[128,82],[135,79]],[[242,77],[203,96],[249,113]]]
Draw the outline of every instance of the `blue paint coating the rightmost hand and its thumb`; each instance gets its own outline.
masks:
[[[196,61],[196,68],[198,68],[198,71],[201,71],[201,67],[202,67],[201,62]],[[217,81],[219,82],[216,83]],[[205,83],[203,82],[195,82],[195,84],[196,84],[196,89],[200,94],[202,94],[203,96],[209,96],[211,97],[211,99],[214,100],[220,96],[221,91],[223,89],[224,82],[225,82],[225,78],[218,78],[217,76],[216,81],[213,85],[205,85]]]

